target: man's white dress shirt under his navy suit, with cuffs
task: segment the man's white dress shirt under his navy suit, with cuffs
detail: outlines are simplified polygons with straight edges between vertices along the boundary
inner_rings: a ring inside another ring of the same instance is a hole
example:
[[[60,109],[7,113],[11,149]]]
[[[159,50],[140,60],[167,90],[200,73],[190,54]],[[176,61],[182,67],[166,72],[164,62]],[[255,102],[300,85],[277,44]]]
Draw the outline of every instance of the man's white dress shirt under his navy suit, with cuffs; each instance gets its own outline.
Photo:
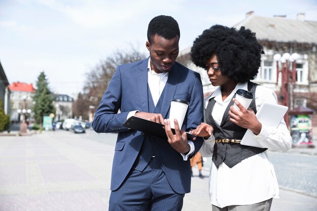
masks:
[[[152,70],[150,59],[148,59],[147,85],[150,89],[154,106],[156,106],[157,102],[159,101],[161,97],[161,94],[165,88],[168,77],[169,77],[169,72],[156,73],[154,70]],[[135,115],[136,112],[138,111],[130,111],[127,116],[127,119]],[[187,154],[180,153],[185,161],[188,159],[190,154],[193,153],[193,151],[195,150],[195,145],[193,144],[192,141],[188,140],[188,144],[190,146],[189,152]]]

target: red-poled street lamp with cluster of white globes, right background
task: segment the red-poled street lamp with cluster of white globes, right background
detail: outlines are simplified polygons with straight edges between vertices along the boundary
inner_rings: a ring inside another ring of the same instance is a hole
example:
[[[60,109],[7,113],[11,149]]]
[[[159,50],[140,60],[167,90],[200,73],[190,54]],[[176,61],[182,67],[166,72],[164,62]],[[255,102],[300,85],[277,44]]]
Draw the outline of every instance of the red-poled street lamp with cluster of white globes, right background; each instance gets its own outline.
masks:
[[[282,105],[293,109],[293,85],[296,82],[296,60],[299,59],[299,54],[293,53],[290,55],[289,53],[283,54],[275,54],[273,56],[273,60],[276,62],[276,85],[279,81],[279,74],[282,72]],[[282,63],[281,69],[279,68],[279,62]],[[292,64],[292,69],[290,68]],[[284,120],[286,125],[290,125],[290,120],[288,116],[288,111],[284,116]]]

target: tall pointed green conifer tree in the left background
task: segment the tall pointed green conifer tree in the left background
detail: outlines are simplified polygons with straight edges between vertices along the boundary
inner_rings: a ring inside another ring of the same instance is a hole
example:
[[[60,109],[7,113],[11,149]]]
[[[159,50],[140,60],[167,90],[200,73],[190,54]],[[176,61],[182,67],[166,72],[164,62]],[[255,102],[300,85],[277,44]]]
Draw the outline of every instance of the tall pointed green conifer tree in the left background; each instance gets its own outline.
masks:
[[[42,123],[43,116],[51,113],[55,114],[55,107],[53,105],[52,92],[48,87],[49,83],[44,72],[41,72],[37,77],[36,91],[33,96],[34,118],[37,123]]]

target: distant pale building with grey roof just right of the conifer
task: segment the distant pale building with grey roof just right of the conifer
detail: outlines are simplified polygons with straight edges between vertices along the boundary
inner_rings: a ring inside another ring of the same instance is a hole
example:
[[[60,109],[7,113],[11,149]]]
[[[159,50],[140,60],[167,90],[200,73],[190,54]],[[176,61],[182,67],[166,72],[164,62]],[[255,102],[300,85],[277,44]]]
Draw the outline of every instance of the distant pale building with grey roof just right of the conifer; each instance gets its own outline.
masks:
[[[55,121],[72,118],[73,98],[68,95],[54,94],[53,99],[53,104],[56,109]]]

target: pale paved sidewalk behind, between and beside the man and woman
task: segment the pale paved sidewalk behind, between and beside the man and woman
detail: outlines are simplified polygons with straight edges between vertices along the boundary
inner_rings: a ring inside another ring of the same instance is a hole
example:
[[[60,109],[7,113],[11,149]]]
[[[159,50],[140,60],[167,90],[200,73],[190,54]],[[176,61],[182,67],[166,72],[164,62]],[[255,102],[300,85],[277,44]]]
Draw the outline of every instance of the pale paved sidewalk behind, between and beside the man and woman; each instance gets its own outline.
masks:
[[[115,137],[91,130],[0,137],[0,211],[107,210]],[[204,179],[193,173],[183,210],[211,210],[209,171]],[[280,195],[272,211],[316,210],[315,197],[283,189]]]

